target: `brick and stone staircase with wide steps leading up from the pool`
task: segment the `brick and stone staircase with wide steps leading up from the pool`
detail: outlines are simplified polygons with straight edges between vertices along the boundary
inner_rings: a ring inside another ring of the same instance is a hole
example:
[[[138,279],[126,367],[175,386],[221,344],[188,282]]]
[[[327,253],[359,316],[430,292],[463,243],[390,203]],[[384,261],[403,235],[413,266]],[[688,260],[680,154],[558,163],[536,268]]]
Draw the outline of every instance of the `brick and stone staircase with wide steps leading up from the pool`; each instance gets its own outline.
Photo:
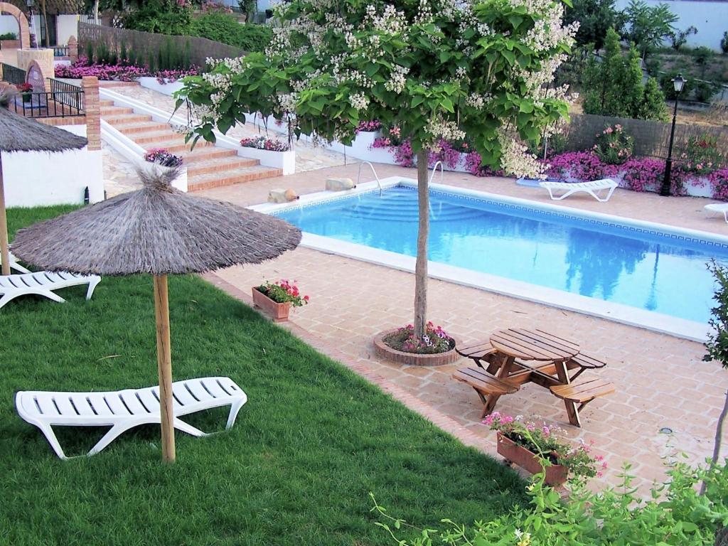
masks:
[[[101,100],[101,118],[145,150],[164,148],[184,159],[189,191],[230,186],[260,178],[281,176],[282,170],[261,166],[258,159],[239,157],[235,150],[198,141],[190,151],[184,136],[169,124],[154,122],[151,116],[135,114],[132,108]]]

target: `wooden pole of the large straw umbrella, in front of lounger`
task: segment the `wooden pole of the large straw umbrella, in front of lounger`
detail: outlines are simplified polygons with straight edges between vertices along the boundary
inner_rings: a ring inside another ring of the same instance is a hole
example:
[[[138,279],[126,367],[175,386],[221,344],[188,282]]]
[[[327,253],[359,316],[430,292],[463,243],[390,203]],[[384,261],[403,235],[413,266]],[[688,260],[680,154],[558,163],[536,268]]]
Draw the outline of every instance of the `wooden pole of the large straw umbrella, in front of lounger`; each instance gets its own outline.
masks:
[[[157,316],[159,410],[162,415],[162,460],[175,462],[175,427],[172,408],[172,349],[167,275],[154,275],[154,312]]]

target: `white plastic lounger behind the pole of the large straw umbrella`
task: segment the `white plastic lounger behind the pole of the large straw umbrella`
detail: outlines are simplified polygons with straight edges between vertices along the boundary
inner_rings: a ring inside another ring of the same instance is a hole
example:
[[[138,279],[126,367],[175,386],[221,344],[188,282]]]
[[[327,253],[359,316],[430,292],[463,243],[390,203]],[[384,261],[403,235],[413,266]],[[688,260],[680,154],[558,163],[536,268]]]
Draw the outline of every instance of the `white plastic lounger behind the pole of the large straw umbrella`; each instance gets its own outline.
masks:
[[[230,430],[242,405],[245,392],[229,377],[202,377],[172,384],[175,429],[193,436],[207,436],[179,419],[210,408],[230,405],[225,429]],[[159,424],[159,387],[126,389],[117,392],[20,391],[15,395],[17,414],[45,435],[55,454],[69,459],[55,437],[53,425],[66,427],[111,427],[91,448],[95,455],[116,437],[140,424]]]

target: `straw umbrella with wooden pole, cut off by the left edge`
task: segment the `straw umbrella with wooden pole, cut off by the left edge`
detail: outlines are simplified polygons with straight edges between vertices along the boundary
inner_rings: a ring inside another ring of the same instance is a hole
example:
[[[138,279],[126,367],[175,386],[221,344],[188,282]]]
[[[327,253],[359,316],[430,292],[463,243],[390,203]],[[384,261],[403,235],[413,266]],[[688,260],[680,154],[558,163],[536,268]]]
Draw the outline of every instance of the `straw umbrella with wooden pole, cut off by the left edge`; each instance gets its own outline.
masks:
[[[2,178],[2,153],[4,151],[77,150],[87,145],[85,138],[9,111],[7,105],[10,98],[12,98],[12,92],[9,91],[9,87],[0,90],[0,261],[4,275],[10,274],[10,260],[7,248],[7,213]]]

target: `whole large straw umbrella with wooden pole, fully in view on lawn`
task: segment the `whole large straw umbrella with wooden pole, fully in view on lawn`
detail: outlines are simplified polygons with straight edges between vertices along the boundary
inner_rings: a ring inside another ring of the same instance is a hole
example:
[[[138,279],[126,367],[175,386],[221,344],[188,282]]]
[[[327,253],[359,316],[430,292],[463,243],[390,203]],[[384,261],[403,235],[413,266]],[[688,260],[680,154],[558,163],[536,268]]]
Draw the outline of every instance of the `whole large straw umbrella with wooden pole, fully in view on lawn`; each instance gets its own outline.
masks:
[[[273,216],[192,197],[177,175],[142,173],[143,188],[21,229],[18,258],[47,271],[154,275],[162,458],[175,459],[167,274],[259,264],[296,248],[301,232]]]

